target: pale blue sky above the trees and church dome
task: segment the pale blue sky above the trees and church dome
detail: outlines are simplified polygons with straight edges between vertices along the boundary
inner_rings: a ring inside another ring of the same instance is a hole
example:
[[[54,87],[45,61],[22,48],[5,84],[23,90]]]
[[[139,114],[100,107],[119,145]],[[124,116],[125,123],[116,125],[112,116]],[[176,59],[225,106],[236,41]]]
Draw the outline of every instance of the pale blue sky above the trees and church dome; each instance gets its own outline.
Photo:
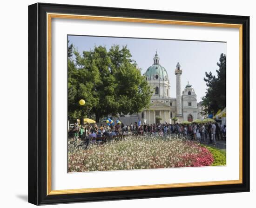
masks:
[[[203,78],[205,71],[211,71],[216,75],[221,53],[227,55],[227,44],[223,42],[204,42],[189,40],[163,40],[163,39],[135,39],[112,38],[91,36],[68,36],[70,43],[80,53],[89,51],[94,46],[105,45],[109,49],[112,45],[127,45],[133,59],[144,73],[153,64],[155,51],[157,50],[162,65],[168,72],[171,84],[171,97],[176,97],[175,68],[177,62],[182,69],[182,90],[189,81],[197,94],[197,102],[200,102],[207,89]]]

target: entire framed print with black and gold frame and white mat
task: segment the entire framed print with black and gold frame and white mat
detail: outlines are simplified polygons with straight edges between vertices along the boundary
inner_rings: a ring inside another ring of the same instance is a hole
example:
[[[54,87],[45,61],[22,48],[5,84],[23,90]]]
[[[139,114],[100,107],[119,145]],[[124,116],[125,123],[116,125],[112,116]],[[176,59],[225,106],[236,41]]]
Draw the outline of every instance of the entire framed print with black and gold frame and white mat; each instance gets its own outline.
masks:
[[[249,191],[249,17],[28,7],[28,201]]]

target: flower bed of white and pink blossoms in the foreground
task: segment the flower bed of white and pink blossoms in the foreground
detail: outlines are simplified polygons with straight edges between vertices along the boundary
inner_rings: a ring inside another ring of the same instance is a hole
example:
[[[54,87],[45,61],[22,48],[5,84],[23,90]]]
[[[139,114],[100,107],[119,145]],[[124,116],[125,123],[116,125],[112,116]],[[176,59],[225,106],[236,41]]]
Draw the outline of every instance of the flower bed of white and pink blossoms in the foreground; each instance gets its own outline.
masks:
[[[210,151],[176,136],[129,136],[123,141],[68,150],[68,172],[209,166]]]

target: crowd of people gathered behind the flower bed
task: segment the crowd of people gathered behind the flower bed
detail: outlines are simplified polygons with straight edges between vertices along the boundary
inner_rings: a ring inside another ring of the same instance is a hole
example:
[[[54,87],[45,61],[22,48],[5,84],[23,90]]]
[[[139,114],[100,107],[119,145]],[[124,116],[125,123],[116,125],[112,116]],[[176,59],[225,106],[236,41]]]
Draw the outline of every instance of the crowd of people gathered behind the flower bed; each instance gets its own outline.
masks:
[[[222,123],[159,123],[159,124],[142,124],[137,122],[128,124],[116,123],[115,126],[104,124],[97,125],[84,123],[79,125],[74,124],[74,127],[69,131],[69,136],[73,138],[91,138],[101,136],[115,135],[142,135],[153,134],[155,136],[166,136],[170,134],[183,135],[189,140],[199,140],[201,143],[215,144],[217,140],[226,140],[226,125]]]

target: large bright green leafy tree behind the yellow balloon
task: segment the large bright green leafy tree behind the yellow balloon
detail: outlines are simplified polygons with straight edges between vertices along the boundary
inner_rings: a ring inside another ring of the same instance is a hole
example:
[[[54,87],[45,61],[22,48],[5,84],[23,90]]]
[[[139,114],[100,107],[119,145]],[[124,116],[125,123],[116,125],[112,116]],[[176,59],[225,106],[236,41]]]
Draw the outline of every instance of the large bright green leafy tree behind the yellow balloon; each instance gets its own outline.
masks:
[[[132,114],[149,106],[150,87],[137,68],[127,46],[95,46],[68,58],[68,113],[96,122],[112,114]],[[78,101],[84,99],[85,106]]]

